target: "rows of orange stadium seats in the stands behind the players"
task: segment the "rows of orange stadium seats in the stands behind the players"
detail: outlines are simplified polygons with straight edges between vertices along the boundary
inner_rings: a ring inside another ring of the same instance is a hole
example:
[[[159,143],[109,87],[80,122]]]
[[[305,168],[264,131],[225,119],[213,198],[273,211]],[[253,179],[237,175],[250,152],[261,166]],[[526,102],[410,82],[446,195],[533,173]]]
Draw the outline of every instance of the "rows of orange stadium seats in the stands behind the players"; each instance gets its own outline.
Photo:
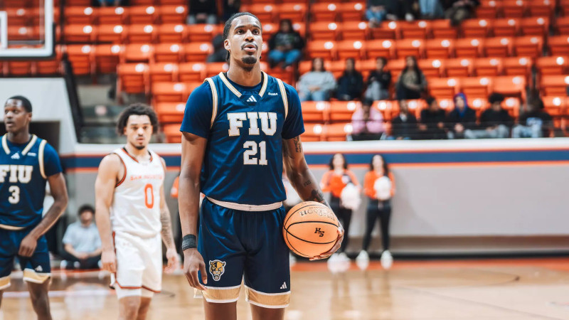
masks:
[[[4,75],[42,76],[61,73],[64,55],[75,75],[117,73],[118,92],[144,93],[159,114],[169,142],[179,142],[179,122],[185,101],[203,78],[227,70],[225,63],[205,63],[212,53],[211,39],[223,25],[185,24],[184,0],[131,0],[129,7],[90,7],[90,0],[68,0],[64,25],[56,27],[58,46],[53,60],[0,61]],[[489,92],[502,92],[513,116],[526,98],[526,87],[543,95],[546,109],[558,121],[569,100],[569,1],[482,0],[476,18],[453,27],[448,20],[385,21],[369,28],[363,14],[365,1],[293,0],[242,1],[242,10],[256,14],[267,41],[282,18],[307,38],[304,60],[298,70],[270,69],[267,73],[294,85],[310,69],[310,59],[321,57],[326,69],[339,77],[344,60],[356,58],[364,78],[375,68],[375,59],[388,59],[394,80],[404,58],[415,55],[428,80],[428,91],[443,108],[452,107],[452,96],[464,92],[478,112],[488,107]],[[55,21],[60,21],[55,1]],[[26,40],[38,33],[38,9],[32,0],[4,1],[11,17],[9,38]],[[565,16],[568,15],[568,16]],[[266,57],[266,54],[265,54]],[[263,58],[265,59],[265,58]],[[393,93],[393,92],[392,92]],[[304,102],[305,141],[346,139],[351,114],[360,102]],[[373,107],[388,122],[398,112],[398,102],[378,101]],[[422,101],[411,101],[419,115]],[[556,122],[558,124],[558,122]]]

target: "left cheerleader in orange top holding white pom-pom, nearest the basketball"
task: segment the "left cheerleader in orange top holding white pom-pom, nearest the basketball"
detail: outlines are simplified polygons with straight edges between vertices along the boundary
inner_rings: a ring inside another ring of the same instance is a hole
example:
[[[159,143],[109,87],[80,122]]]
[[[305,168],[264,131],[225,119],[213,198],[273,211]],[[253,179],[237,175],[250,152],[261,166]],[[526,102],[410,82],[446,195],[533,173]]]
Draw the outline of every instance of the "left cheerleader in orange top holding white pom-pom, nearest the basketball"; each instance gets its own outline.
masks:
[[[354,201],[354,191],[355,196],[359,198],[358,190],[359,183],[356,176],[348,170],[348,162],[344,154],[334,154],[329,163],[330,170],[322,176],[322,181],[320,187],[323,192],[330,192],[330,207],[341,221],[346,230],[346,236],[344,237],[344,242],[338,250],[339,253],[335,253],[330,257],[330,260],[341,260],[348,261],[349,258],[346,255],[346,247],[348,246],[349,237],[348,232],[350,230],[350,221],[354,203],[358,205],[358,201]],[[349,203],[348,203],[349,202]]]

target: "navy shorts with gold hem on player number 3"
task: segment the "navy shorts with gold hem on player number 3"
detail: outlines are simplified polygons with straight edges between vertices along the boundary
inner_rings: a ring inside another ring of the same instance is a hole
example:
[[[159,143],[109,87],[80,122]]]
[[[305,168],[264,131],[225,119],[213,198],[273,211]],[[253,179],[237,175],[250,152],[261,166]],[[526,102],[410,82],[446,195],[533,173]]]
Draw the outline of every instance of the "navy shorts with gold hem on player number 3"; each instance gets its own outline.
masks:
[[[43,283],[51,276],[48,241],[43,235],[38,239],[36,251],[31,257],[18,255],[20,243],[33,228],[23,230],[0,229],[0,290],[10,287],[10,274],[14,257],[18,257],[26,282]]]

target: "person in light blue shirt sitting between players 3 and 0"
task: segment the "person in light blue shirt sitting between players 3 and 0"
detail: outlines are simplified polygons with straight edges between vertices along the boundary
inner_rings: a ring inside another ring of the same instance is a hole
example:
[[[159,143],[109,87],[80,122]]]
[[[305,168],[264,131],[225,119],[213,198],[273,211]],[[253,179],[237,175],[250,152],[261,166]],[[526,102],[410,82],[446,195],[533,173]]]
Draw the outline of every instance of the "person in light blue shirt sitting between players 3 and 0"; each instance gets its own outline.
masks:
[[[95,269],[100,267],[101,238],[93,223],[95,208],[83,205],[79,208],[79,220],[71,223],[63,235],[63,260],[60,267],[65,270]]]

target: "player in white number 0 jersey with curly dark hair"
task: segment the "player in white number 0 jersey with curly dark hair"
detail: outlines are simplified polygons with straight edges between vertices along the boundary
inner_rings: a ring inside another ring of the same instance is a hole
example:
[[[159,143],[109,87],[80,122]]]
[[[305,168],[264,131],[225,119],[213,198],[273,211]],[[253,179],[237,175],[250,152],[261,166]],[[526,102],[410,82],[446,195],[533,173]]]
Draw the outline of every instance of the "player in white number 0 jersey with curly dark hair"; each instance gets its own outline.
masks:
[[[142,104],[127,107],[117,123],[117,131],[127,137],[127,144],[102,159],[95,181],[102,267],[112,273],[119,319],[146,319],[153,294],[160,292],[160,238],[166,245],[166,270],[178,264],[164,198],[166,164],[148,149],[156,129],[154,110]]]

